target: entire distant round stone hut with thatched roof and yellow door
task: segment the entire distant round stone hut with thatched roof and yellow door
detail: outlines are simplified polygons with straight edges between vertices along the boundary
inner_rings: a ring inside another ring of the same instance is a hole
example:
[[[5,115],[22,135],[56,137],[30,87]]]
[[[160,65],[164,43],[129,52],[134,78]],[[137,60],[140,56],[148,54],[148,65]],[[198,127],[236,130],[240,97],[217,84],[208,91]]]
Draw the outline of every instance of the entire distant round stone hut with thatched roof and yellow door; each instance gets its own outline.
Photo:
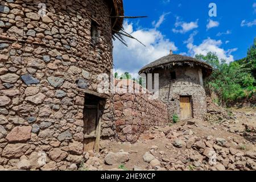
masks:
[[[203,61],[171,51],[143,67],[139,74],[159,74],[159,99],[167,104],[169,119],[174,114],[181,119],[203,118],[207,111],[203,79],[212,69]]]

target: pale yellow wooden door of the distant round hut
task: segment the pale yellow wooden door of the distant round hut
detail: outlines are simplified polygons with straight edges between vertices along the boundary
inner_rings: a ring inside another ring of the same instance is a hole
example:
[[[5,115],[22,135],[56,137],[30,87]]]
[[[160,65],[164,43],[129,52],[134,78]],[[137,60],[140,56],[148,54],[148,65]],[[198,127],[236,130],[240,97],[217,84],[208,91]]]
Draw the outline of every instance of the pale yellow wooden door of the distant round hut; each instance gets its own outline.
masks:
[[[180,97],[181,119],[192,117],[190,97]]]

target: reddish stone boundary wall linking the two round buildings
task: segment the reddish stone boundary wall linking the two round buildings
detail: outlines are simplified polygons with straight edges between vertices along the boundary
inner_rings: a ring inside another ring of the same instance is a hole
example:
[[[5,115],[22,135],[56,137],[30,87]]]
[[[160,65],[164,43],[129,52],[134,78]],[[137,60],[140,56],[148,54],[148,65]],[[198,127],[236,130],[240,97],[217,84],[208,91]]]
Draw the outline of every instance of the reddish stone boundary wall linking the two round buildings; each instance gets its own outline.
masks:
[[[151,94],[145,90],[142,92],[138,84],[129,84],[130,88],[126,83],[120,85],[122,91],[132,92],[117,92],[114,95],[115,127],[119,140],[134,143],[151,126],[165,126],[169,122],[166,104],[160,100],[151,100]]]

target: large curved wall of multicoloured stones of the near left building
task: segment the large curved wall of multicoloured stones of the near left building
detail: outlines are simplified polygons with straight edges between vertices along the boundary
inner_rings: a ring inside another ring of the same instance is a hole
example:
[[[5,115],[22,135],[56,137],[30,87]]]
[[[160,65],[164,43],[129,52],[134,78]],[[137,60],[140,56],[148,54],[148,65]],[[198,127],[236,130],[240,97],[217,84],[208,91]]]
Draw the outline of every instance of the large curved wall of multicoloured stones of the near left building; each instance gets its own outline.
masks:
[[[0,2],[0,166],[65,170],[82,161],[86,98],[102,98],[97,76],[113,64],[113,2]],[[114,135],[112,99],[98,109],[101,135]]]

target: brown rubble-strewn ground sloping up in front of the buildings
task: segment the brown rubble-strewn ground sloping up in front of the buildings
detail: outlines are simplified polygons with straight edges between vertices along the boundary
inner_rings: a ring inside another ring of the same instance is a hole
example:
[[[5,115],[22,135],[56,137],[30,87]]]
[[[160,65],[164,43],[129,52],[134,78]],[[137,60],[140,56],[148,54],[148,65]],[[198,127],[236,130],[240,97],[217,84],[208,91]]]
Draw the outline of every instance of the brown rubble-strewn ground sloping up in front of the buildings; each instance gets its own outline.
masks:
[[[212,114],[218,113],[228,118],[152,127],[134,144],[105,140],[101,153],[86,154],[88,160],[79,169],[256,170],[255,109]]]

